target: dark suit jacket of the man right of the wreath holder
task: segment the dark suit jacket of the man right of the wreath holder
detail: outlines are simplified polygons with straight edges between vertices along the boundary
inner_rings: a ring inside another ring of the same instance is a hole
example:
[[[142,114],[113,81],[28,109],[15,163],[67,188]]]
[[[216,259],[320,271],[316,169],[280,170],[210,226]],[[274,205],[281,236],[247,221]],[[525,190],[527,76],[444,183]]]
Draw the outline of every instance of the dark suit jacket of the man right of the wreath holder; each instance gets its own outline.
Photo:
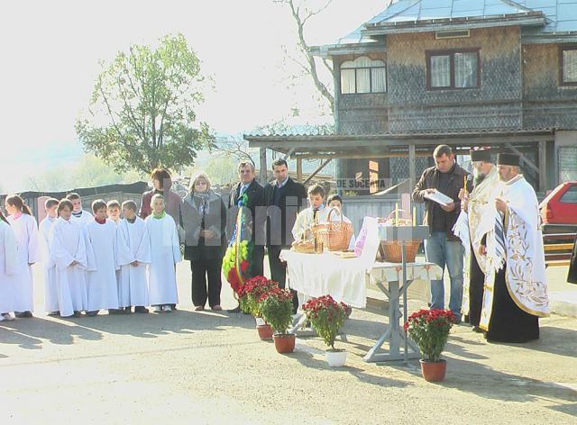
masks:
[[[274,207],[274,180],[264,186],[264,203],[267,206],[267,246],[288,247],[292,243],[292,228],[298,212],[307,205],[307,189],[289,177],[280,189],[279,208]]]

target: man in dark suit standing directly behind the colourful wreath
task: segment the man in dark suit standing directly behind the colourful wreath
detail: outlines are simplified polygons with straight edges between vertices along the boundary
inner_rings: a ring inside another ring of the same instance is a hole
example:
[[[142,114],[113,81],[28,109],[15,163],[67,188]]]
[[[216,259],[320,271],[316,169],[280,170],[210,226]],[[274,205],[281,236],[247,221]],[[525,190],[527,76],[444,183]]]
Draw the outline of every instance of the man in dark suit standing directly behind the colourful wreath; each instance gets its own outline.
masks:
[[[238,165],[238,176],[240,182],[234,186],[228,202],[228,237],[231,238],[234,231],[234,224],[238,214],[239,199],[246,194],[247,202],[243,208],[248,208],[250,214],[248,229],[251,231],[251,241],[254,242],[252,250],[252,268],[250,277],[264,275],[264,222],[266,220],[266,209],[264,207],[264,189],[254,178],[254,164],[249,161],[241,162]],[[231,312],[240,312],[237,307]]]

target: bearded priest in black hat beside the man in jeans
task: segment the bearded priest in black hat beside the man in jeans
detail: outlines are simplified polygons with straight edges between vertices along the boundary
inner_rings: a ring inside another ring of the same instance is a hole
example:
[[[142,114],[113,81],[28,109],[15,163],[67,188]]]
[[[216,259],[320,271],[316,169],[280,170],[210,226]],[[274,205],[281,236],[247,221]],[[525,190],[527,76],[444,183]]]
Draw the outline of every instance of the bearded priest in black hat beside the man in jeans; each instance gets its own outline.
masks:
[[[473,330],[481,332],[481,308],[483,302],[483,286],[485,284],[486,257],[481,255],[481,239],[489,232],[490,227],[481,226],[481,217],[490,213],[488,209],[494,208],[497,190],[499,189],[499,174],[495,167],[495,160],[491,156],[489,148],[471,150],[471,161],[474,170],[474,188],[469,194],[465,189],[461,190],[459,198],[463,212],[467,213],[469,224],[467,240],[470,249],[466,249],[467,258],[465,266],[463,312],[465,321],[468,321]],[[485,224],[491,224],[485,221]],[[463,231],[467,231],[464,230]]]

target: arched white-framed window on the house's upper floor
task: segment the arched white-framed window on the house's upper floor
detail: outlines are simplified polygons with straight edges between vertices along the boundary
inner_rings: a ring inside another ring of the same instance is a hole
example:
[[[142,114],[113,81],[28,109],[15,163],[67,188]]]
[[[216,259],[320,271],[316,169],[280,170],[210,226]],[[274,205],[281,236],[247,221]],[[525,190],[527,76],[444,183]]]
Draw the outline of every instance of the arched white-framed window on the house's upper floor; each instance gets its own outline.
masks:
[[[383,60],[362,56],[341,64],[341,93],[385,93],[387,68]]]

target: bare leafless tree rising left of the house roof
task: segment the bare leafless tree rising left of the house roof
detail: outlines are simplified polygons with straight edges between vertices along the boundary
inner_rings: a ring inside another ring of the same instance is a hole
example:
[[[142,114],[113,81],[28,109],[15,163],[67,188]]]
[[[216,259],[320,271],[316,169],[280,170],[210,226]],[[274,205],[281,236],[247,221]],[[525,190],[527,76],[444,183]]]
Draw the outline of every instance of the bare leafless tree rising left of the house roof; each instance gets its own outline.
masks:
[[[318,63],[321,63],[330,73],[333,75],[333,66],[325,58],[316,59],[310,52],[310,46],[305,38],[305,28],[307,26],[308,20],[317,14],[322,13],[333,0],[327,0],[324,5],[311,8],[307,6],[307,0],[298,2],[295,0],[274,0],[274,3],[279,3],[287,5],[292,14],[292,18],[297,24],[298,31],[298,58],[291,57],[298,66],[302,69],[303,75],[309,75],[315,83],[316,89],[322,95],[331,107],[331,112],[334,113],[334,95],[333,95],[333,81],[324,83],[319,77]]]

